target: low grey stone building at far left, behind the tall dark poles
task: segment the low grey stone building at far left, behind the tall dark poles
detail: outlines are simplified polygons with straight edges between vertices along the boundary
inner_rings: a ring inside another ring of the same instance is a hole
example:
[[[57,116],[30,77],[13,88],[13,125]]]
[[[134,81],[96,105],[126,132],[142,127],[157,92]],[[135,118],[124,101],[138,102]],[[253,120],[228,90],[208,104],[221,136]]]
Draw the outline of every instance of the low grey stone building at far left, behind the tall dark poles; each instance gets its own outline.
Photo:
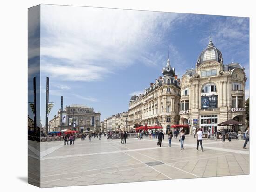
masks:
[[[93,108],[86,105],[72,104],[66,106],[62,111],[62,121],[61,111],[58,111],[58,114],[49,121],[49,129],[50,131],[60,131],[68,128],[79,132],[100,130],[100,116],[101,113],[94,112]]]

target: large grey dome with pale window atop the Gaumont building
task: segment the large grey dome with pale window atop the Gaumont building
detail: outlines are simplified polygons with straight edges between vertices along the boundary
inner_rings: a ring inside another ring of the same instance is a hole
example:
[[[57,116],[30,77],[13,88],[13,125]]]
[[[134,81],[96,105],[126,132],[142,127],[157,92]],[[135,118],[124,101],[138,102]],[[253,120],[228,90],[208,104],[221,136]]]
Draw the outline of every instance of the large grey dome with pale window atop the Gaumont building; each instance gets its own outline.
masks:
[[[199,55],[196,66],[204,63],[205,61],[217,61],[223,64],[222,53],[219,49],[217,49],[210,38],[209,44],[207,45],[206,49],[201,52]]]

